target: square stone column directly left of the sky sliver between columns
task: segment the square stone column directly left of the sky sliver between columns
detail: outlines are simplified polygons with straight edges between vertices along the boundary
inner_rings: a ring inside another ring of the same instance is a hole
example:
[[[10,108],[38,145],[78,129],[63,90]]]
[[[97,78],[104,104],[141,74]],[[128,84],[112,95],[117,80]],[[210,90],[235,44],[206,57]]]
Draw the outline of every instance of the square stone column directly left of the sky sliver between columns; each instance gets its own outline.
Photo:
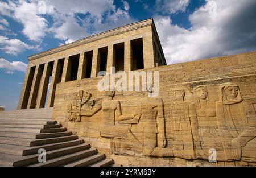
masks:
[[[36,100],[36,108],[42,108],[46,104],[46,95],[49,84],[49,77],[51,74],[51,65],[44,64],[44,72],[38,90],[38,99]]]

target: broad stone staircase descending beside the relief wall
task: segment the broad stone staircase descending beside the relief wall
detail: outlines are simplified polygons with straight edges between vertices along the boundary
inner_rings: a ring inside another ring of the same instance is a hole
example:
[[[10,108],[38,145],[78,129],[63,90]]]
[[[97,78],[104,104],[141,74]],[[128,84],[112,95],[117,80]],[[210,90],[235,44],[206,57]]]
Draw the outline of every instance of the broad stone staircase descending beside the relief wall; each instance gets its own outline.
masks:
[[[51,116],[52,109],[1,111],[0,166],[119,166]],[[46,162],[38,162],[40,148]]]

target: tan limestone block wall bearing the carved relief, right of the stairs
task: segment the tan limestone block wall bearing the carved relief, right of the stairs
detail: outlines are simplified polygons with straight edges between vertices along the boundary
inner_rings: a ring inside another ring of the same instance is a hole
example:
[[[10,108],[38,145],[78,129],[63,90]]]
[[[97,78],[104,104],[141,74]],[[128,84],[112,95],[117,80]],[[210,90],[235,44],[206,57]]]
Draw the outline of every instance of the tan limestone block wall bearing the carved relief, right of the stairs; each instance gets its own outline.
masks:
[[[52,119],[118,164],[256,165],[256,52],[141,71],[159,72],[158,97],[61,82]]]

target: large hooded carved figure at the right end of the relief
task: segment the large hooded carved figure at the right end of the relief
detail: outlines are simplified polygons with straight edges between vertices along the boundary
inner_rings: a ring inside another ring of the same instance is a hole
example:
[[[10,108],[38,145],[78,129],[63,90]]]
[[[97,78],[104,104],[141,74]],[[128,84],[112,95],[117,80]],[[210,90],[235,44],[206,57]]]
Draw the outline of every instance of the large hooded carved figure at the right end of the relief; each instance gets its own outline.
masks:
[[[256,114],[252,102],[242,98],[234,83],[219,86],[217,123],[226,160],[240,160],[241,147],[256,136]]]

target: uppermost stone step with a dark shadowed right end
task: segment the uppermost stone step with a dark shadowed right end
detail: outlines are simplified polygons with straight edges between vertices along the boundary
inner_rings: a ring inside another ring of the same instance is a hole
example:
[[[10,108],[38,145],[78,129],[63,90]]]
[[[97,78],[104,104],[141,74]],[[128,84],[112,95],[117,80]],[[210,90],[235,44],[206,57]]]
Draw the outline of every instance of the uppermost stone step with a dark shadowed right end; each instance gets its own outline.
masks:
[[[25,120],[25,121],[20,121],[21,119],[8,119],[3,121],[3,119],[0,119],[0,125],[10,125],[10,124],[28,124],[28,125],[53,125],[56,124],[57,121],[36,121],[36,120]],[[23,120],[23,119],[22,119]]]

